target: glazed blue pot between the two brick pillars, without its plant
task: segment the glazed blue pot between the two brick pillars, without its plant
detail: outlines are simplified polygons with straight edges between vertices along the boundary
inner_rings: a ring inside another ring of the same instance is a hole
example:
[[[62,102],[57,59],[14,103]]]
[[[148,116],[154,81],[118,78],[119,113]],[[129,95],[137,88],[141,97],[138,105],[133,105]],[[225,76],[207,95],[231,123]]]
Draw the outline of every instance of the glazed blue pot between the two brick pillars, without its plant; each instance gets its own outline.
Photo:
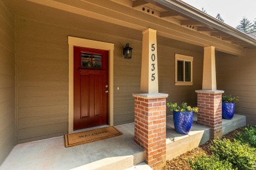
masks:
[[[181,134],[188,134],[193,124],[193,112],[173,111],[173,122],[175,130]]]

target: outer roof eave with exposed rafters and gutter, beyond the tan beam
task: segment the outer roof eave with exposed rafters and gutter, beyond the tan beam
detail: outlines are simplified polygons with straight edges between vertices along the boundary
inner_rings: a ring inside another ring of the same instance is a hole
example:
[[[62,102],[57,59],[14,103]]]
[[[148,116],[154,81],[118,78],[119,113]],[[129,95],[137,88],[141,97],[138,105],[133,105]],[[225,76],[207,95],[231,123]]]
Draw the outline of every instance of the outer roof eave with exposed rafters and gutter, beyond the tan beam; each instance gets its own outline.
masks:
[[[112,0],[116,1],[116,0]],[[212,37],[217,37],[223,41],[231,41],[232,44],[238,46],[244,46],[247,48],[253,48],[256,46],[255,39],[252,39],[248,35],[230,27],[230,25],[224,24],[205,14],[201,10],[182,2],[175,0],[132,0],[134,4],[141,4],[140,6],[148,7],[149,9],[157,10],[160,18],[169,17],[176,18],[180,21],[180,25],[186,27],[192,27],[196,31],[209,32]],[[140,3],[139,3],[140,2]],[[144,3],[141,3],[144,2]],[[149,6],[150,5],[150,6]],[[139,5],[136,5],[136,7]],[[159,10],[160,9],[160,10]],[[239,41],[238,41],[239,40]]]

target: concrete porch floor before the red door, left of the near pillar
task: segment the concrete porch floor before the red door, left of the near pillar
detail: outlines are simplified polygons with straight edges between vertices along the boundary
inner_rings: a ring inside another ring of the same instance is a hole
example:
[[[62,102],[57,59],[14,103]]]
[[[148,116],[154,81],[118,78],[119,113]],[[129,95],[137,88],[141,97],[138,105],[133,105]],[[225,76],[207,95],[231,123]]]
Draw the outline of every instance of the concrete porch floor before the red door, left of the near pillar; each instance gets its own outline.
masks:
[[[0,169],[125,169],[144,161],[134,124],[116,127],[123,135],[70,148],[63,136],[18,144]]]

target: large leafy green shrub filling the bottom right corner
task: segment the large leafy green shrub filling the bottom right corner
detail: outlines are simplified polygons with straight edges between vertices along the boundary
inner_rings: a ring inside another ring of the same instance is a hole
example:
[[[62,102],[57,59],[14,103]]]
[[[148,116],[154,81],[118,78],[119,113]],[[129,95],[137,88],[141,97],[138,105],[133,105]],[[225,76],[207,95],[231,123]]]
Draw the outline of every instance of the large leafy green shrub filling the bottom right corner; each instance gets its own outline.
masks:
[[[216,139],[212,141],[211,152],[220,160],[232,163],[234,169],[255,169],[256,149],[234,139]]]

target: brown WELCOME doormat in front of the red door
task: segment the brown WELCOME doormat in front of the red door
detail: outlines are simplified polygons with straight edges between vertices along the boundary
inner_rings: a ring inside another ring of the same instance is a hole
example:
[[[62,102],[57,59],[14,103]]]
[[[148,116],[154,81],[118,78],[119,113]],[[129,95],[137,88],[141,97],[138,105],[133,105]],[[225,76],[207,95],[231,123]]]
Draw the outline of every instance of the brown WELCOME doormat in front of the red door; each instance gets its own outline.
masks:
[[[101,139],[107,139],[122,134],[123,133],[121,133],[121,131],[116,129],[116,127],[114,126],[103,127],[100,129],[83,131],[79,133],[72,133],[65,135],[65,146],[71,147],[79,144],[91,143],[94,141],[99,141]]]

